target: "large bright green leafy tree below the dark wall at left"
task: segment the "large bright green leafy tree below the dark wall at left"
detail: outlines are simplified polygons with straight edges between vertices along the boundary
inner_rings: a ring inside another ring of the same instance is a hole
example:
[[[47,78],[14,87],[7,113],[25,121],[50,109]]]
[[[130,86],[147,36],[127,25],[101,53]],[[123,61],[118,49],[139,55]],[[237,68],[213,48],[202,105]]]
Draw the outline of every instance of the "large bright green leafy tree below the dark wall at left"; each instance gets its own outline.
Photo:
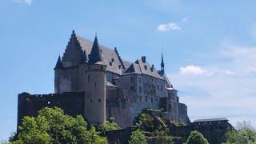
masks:
[[[73,118],[57,107],[40,110],[36,118],[24,117],[18,129],[12,143],[107,143],[93,126],[87,128],[82,116]]]

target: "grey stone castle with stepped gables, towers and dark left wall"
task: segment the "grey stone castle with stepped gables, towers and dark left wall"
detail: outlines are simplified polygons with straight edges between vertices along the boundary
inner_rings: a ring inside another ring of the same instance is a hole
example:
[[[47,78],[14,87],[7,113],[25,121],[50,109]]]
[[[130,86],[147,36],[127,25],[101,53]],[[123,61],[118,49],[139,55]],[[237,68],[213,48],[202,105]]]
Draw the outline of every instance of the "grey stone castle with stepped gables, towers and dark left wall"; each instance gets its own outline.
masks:
[[[146,108],[161,111],[167,119],[189,123],[187,106],[179,102],[165,74],[142,56],[123,60],[117,48],[110,49],[71,34],[70,42],[54,67],[54,94],[18,94],[18,126],[24,116],[36,116],[43,107],[58,106],[66,114],[81,114],[95,125],[114,117],[122,128]]]

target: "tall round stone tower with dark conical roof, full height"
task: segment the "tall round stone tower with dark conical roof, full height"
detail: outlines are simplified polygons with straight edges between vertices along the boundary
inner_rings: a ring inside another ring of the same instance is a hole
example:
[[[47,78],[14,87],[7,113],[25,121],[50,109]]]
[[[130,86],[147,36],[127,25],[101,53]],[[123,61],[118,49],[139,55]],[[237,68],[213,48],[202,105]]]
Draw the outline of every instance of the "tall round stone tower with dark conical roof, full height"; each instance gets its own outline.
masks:
[[[85,66],[85,117],[99,125],[106,122],[106,65],[102,62],[102,50],[97,36]]]

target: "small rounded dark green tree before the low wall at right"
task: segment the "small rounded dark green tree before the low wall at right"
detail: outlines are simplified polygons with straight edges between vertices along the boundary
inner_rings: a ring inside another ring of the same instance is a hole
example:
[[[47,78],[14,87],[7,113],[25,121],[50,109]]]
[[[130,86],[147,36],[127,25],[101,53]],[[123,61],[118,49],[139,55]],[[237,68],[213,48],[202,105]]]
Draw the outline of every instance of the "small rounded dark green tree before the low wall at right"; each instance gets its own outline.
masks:
[[[206,138],[198,131],[192,131],[189,138],[186,140],[186,144],[209,144]]]

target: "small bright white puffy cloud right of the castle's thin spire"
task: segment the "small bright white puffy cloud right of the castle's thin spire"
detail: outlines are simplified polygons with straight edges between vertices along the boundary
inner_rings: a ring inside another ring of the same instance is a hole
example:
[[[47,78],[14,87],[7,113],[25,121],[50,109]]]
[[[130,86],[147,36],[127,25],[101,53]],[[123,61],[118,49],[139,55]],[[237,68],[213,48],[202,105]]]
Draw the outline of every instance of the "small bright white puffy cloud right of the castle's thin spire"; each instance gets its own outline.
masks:
[[[205,74],[206,70],[202,70],[200,66],[190,65],[190,66],[180,67],[179,73],[201,75],[201,74]]]

